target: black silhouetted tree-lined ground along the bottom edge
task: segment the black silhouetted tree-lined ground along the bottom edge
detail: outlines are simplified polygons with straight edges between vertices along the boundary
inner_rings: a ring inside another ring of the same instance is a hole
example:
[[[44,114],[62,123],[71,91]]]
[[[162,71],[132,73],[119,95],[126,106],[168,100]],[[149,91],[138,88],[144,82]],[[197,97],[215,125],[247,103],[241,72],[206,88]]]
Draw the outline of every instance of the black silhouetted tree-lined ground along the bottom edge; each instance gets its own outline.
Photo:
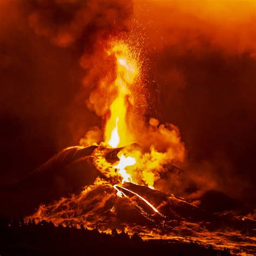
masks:
[[[45,221],[1,220],[0,255],[232,255],[194,242],[143,241],[137,234],[112,234],[86,228],[54,226]]]

